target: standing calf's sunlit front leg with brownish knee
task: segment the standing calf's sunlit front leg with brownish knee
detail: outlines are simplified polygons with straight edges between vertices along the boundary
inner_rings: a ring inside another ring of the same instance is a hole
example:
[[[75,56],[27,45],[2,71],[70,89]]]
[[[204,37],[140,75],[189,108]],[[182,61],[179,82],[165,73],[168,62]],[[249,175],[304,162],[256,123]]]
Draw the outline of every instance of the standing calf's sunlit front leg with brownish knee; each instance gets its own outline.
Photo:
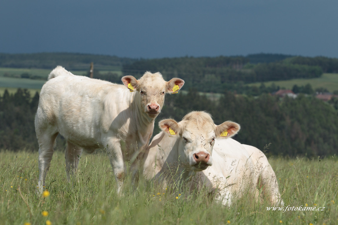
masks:
[[[124,161],[121,150],[120,140],[112,140],[107,146],[107,153],[110,163],[113,167],[116,182],[117,182],[117,192],[121,193],[121,188],[123,185],[124,178]]]

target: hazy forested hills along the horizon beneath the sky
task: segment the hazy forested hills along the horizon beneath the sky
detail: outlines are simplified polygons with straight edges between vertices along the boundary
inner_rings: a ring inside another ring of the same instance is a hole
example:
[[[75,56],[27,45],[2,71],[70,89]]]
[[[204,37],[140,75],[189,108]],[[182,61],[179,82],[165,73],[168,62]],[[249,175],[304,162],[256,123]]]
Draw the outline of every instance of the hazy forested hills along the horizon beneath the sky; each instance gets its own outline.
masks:
[[[94,62],[94,78],[98,79],[119,83],[124,75],[139,78],[146,71],[161,72],[166,80],[184,79],[187,89],[218,93],[228,90],[250,94],[252,88],[244,87],[248,83],[317,78],[323,73],[338,73],[337,58],[282,54],[131,59],[75,53],[0,53],[0,67],[53,69],[62,65],[68,70],[89,70],[91,62]],[[100,71],[105,71],[105,75]],[[107,71],[122,71],[122,74]]]

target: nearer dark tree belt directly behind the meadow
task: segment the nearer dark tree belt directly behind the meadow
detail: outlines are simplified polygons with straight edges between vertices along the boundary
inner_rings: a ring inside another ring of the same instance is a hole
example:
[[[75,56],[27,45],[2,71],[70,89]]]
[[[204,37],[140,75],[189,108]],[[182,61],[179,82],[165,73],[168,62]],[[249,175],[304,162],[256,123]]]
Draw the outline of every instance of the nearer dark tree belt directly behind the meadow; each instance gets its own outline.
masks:
[[[0,149],[38,150],[34,115],[39,94],[30,96],[25,89],[15,94],[6,90],[0,99]],[[338,106],[338,100],[332,104]],[[338,107],[337,107],[338,108]],[[338,153],[338,113],[332,105],[313,96],[296,99],[261,94],[258,97],[237,95],[229,91],[211,100],[190,89],[187,94],[166,95],[162,113],[155,121],[153,135],[159,132],[158,121],[172,117],[177,121],[192,110],[210,112],[216,124],[232,120],[241,125],[236,140],[265,152],[282,156],[330,156]],[[57,148],[65,148],[65,140],[57,138]]]

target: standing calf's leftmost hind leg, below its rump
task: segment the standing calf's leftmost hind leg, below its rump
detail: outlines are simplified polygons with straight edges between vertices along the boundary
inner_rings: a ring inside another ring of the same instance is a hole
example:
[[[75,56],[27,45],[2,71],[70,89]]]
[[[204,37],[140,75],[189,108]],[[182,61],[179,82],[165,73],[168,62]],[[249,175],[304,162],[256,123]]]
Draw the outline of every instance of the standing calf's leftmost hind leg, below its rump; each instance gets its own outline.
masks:
[[[46,174],[50,167],[50,161],[54,153],[54,142],[58,133],[38,135],[39,142],[39,180],[38,193],[41,195],[45,187]]]

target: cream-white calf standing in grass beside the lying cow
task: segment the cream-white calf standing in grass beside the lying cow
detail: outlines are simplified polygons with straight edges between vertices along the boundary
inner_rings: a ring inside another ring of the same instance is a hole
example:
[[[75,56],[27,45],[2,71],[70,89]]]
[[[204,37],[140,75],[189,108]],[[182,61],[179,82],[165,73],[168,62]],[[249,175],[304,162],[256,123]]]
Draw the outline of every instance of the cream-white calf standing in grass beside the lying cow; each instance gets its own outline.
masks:
[[[82,149],[93,152],[106,148],[120,191],[125,169],[120,141],[126,142],[129,156],[146,147],[165,93],[173,93],[184,84],[178,78],[166,82],[160,73],[150,72],[139,80],[125,76],[122,82],[124,85],[76,76],[61,66],[49,74],[35,116],[40,193],[57,134],[67,139],[67,177],[77,168]]]

